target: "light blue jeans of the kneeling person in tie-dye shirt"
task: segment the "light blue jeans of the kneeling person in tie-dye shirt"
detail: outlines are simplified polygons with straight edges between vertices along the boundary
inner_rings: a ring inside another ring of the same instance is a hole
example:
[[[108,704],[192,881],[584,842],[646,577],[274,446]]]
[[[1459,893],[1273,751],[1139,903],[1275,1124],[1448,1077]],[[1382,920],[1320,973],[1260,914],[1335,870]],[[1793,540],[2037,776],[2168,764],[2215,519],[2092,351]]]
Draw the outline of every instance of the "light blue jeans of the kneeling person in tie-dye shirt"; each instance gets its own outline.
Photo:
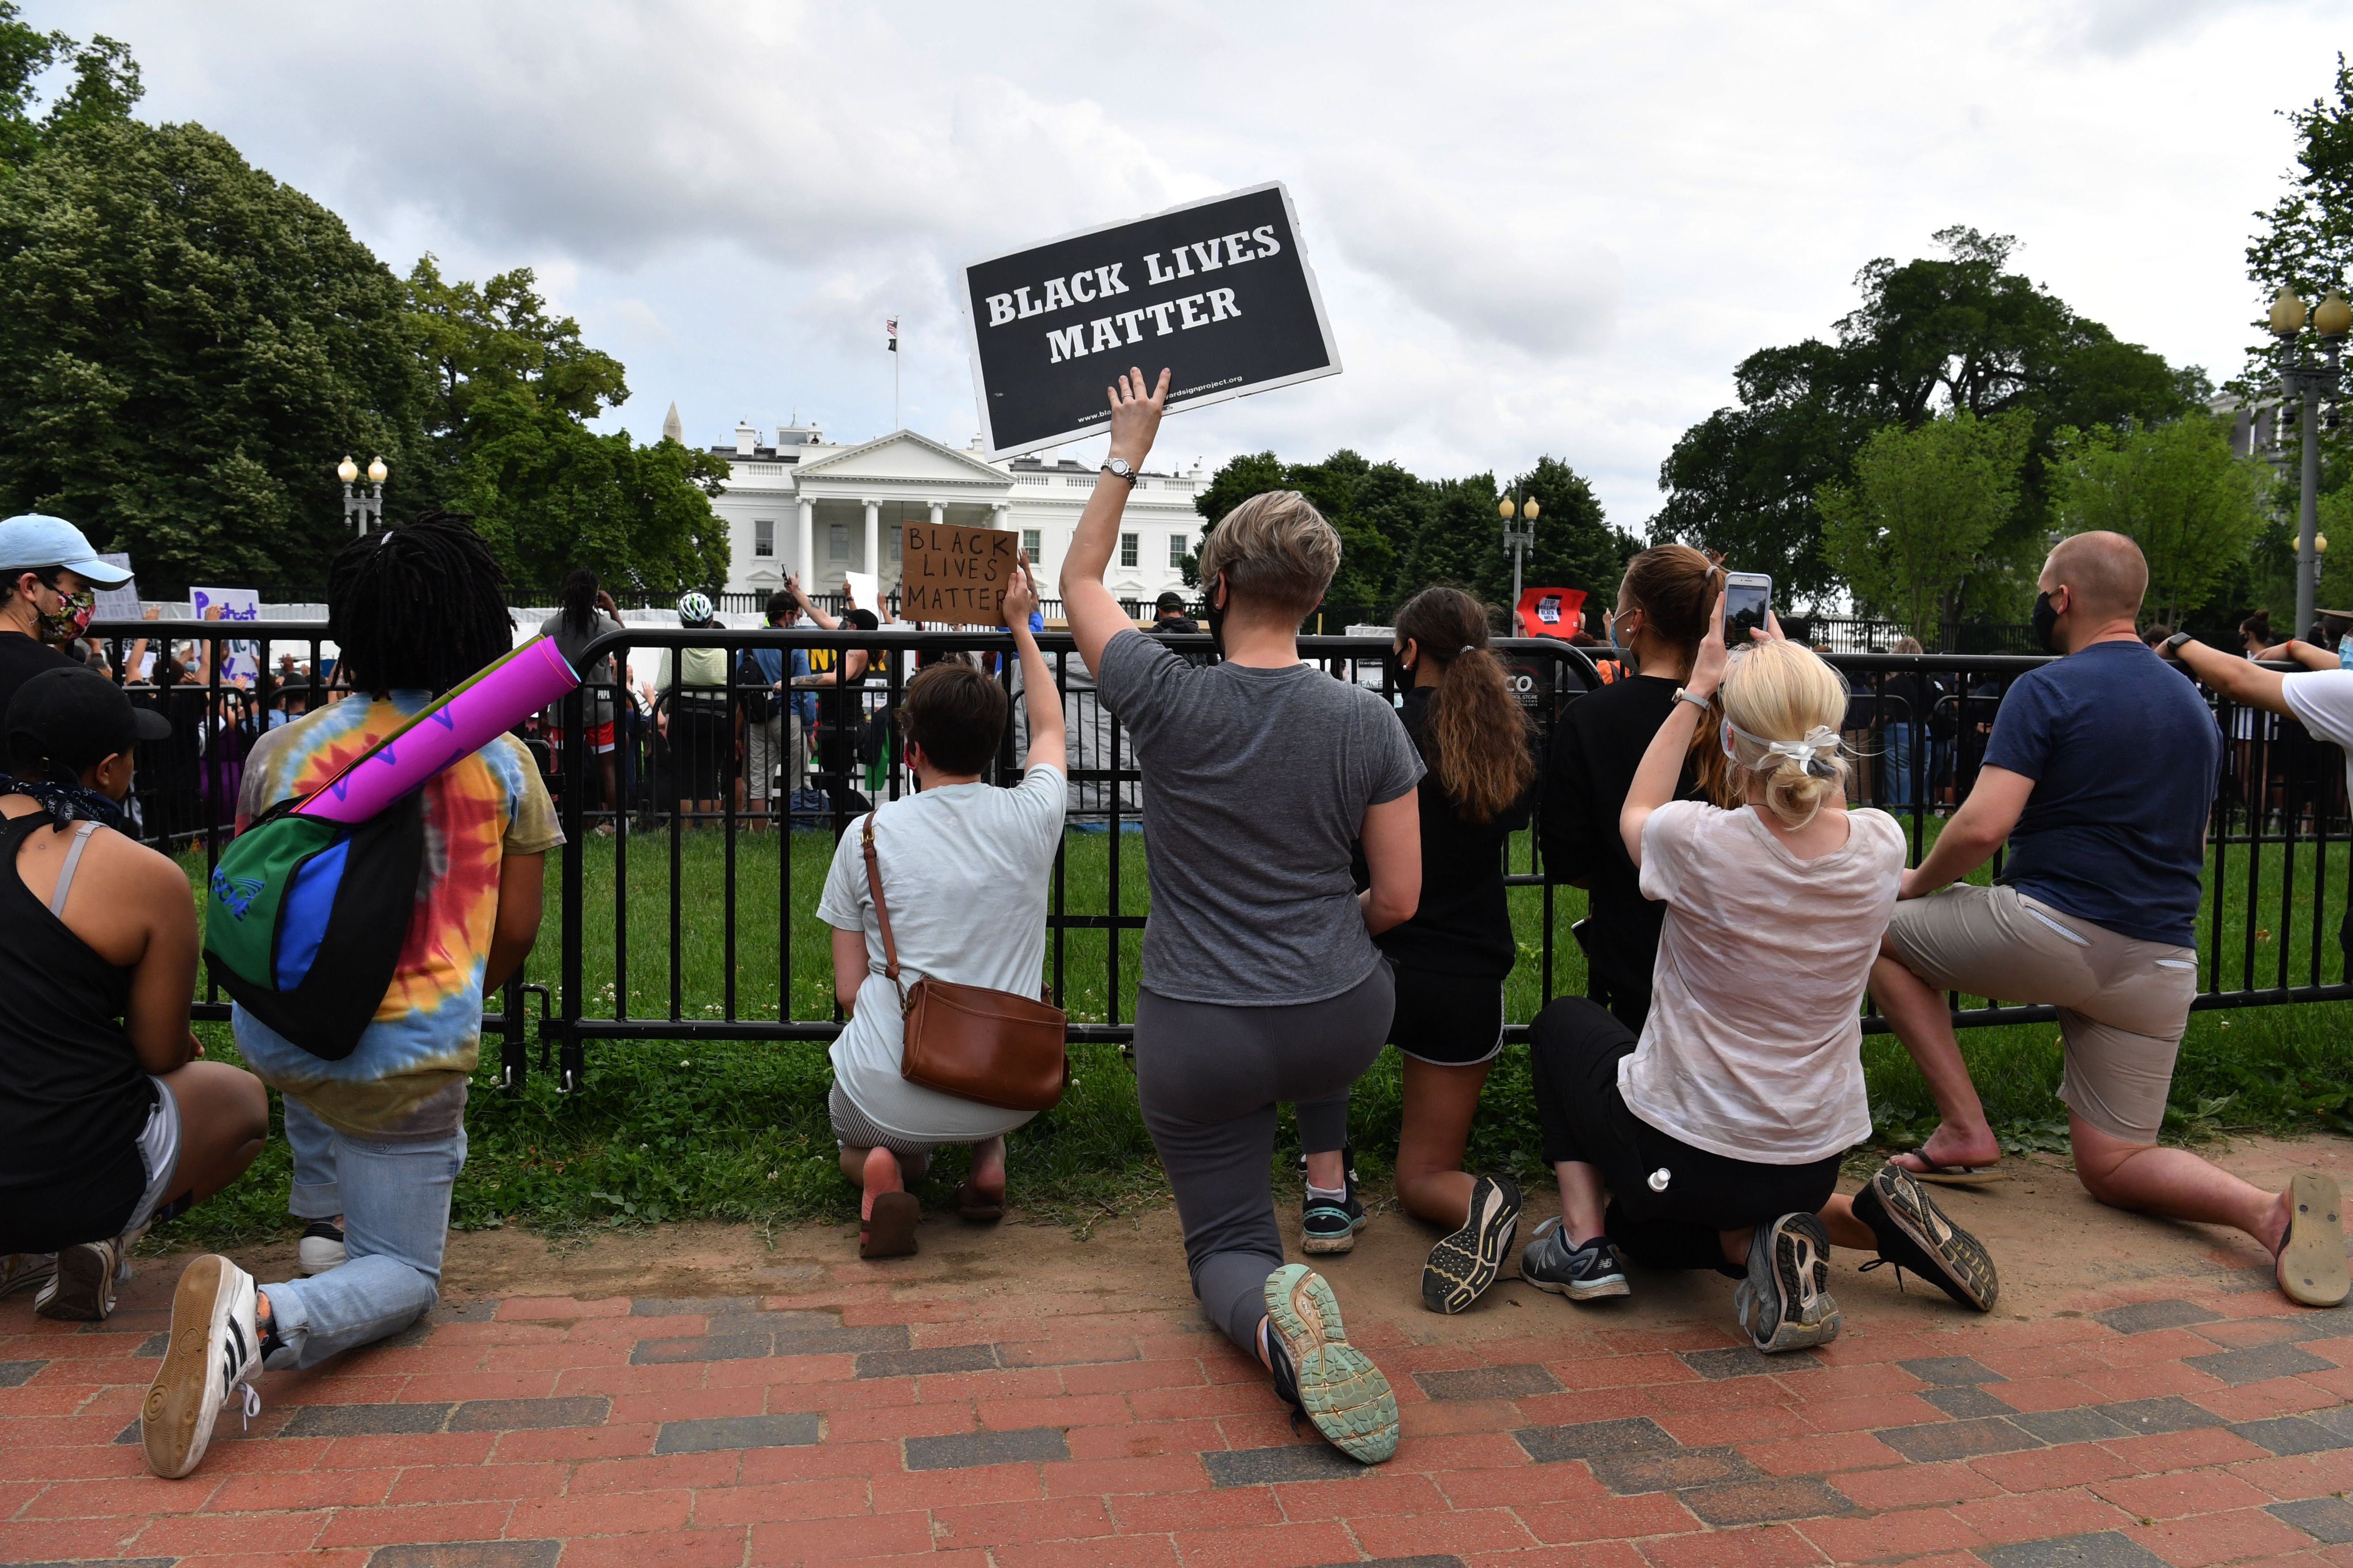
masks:
[[[261,1286],[285,1340],[268,1361],[273,1371],[318,1366],[372,1345],[433,1307],[449,1241],[449,1192],[466,1168],[464,1126],[440,1138],[374,1143],[327,1126],[292,1095],[287,1143],[296,1159],[294,1213],[334,1204],[325,1215],[344,1215],[346,1262],[311,1279]]]

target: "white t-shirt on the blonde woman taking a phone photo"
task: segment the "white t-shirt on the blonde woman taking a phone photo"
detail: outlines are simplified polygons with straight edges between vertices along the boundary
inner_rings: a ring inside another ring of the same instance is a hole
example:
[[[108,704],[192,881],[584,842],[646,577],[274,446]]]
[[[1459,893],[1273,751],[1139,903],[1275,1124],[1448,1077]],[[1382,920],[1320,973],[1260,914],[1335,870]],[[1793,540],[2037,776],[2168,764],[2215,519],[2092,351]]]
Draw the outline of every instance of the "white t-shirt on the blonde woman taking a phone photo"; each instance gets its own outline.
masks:
[[[1642,825],[1666,903],[1649,1023],[1619,1060],[1626,1110],[1694,1150],[1802,1166],[1871,1135],[1859,1004],[1897,907],[1904,830],[1849,811],[1800,860],[1755,809],[1668,802]]]

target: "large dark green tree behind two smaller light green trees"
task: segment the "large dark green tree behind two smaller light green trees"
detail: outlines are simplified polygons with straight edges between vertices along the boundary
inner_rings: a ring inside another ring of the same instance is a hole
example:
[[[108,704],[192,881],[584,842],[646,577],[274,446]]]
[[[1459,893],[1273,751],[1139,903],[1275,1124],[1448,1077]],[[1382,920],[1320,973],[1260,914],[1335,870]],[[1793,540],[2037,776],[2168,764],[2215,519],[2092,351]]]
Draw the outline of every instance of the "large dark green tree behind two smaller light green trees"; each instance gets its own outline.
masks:
[[[1769,571],[1791,602],[1835,588],[1824,552],[1819,494],[1847,484],[1866,440],[1885,425],[1922,425],[1962,409],[1991,418],[2021,409],[2028,449],[2047,456],[2064,425],[2158,421],[2202,386],[2162,357],[2118,343],[2099,322],[2009,270],[2017,240],[1946,228],[1941,259],[1878,259],[1857,273],[1861,303],[1835,322],[1835,341],[1765,348],[1734,371],[1739,404],[1685,430],[1659,468],[1666,501],[1652,538],[1720,550],[1732,567]],[[2031,463],[2021,503],[1986,541],[1988,562],[2017,562],[2045,529],[2042,465]],[[2012,574],[1981,569],[1974,609],[2002,611]]]

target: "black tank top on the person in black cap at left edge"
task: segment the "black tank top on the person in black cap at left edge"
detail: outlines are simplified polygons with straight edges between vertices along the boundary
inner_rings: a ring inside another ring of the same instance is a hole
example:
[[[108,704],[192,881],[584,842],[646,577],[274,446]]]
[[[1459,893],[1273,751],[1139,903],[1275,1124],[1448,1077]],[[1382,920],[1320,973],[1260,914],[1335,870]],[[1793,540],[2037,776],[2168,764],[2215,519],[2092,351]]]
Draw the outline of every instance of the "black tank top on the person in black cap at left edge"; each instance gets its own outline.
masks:
[[[0,1253],[99,1241],[146,1192],[139,1133],[155,1086],[122,1032],[132,969],[92,952],[16,875],[16,851],[52,827],[47,811],[0,823]]]

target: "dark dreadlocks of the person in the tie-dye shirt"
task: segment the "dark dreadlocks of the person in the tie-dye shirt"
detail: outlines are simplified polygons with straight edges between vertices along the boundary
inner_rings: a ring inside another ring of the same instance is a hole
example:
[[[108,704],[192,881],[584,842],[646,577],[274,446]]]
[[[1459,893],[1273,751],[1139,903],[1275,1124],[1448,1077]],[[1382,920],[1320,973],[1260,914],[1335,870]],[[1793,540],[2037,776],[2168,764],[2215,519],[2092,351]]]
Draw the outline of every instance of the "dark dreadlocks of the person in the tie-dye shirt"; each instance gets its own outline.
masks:
[[[346,545],[327,569],[327,632],[355,691],[447,691],[515,642],[506,574],[464,512]]]

